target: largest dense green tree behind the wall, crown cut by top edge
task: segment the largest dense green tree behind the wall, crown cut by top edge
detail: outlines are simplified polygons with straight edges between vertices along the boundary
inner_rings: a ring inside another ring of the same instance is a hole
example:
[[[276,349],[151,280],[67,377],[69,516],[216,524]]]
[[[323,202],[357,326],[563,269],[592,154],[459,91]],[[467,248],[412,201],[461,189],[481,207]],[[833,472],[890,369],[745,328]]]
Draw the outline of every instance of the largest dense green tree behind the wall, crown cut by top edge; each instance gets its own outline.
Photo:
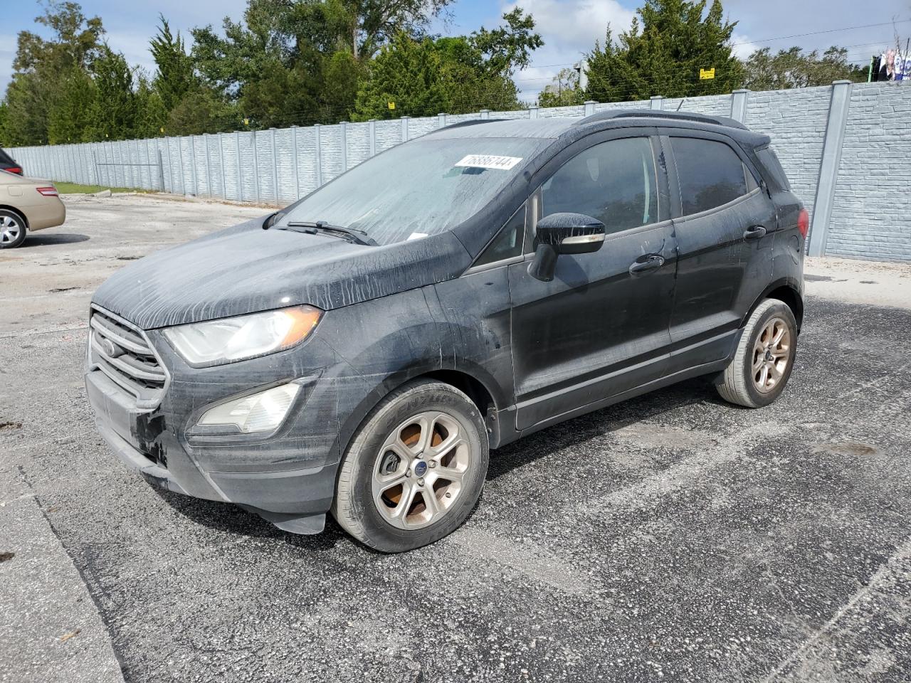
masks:
[[[397,32],[419,36],[451,0],[250,0],[224,37],[193,29],[204,82],[257,127],[334,123],[353,110],[366,65]]]

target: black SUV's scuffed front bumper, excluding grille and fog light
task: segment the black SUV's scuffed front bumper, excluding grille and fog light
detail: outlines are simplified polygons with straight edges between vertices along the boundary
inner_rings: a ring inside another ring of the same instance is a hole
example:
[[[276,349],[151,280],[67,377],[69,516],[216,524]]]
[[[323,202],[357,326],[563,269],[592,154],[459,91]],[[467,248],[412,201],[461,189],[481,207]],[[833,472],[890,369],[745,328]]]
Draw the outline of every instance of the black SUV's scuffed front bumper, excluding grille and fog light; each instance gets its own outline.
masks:
[[[101,372],[90,350],[87,354],[88,402],[98,433],[119,459],[169,491],[241,505],[295,533],[322,531],[339,460],[336,383],[319,382],[322,370],[295,368],[291,356],[194,370],[181,368],[182,361],[160,340],[155,348],[169,382],[151,410],[138,408],[137,397]],[[289,372],[302,391],[275,433],[192,429],[211,403],[260,391],[262,382],[277,374],[286,380]],[[302,372],[310,374],[301,377]]]

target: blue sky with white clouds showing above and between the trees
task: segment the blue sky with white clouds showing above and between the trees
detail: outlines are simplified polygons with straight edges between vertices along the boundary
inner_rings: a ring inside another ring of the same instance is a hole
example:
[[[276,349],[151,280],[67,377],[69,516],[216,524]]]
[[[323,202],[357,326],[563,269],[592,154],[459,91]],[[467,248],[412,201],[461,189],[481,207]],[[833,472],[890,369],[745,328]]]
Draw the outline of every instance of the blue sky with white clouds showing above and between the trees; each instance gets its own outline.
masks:
[[[15,36],[21,30],[42,33],[35,24],[41,8],[33,0],[9,0],[4,3],[4,21],[0,25],[0,93],[12,74]],[[500,15],[515,6],[504,0],[456,0],[448,16],[435,21],[435,31],[457,35],[480,25],[496,25]],[[588,51],[595,39],[603,38],[608,22],[615,34],[630,25],[636,7],[632,0],[521,0],[518,3],[535,16],[537,30],[545,46],[537,51],[533,64],[517,74],[522,98],[532,100],[562,66],[569,66]],[[123,0],[84,0],[86,15],[98,15],[107,29],[110,46],[124,53],[131,64],[154,68],[148,54],[148,38],[155,33],[159,12],[168,17],[173,27],[183,33],[196,25],[221,25],[230,15],[241,17],[246,0],[155,0],[125,3]],[[837,44],[847,46],[849,57],[866,61],[874,50],[895,44],[895,31],[904,46],[911,36],[911,0],[727,0],[726,13],[739,22],[734,42],[742,55],[752,49],[771,46],[774,49],[793,45],[822,48]],[[872,24],[885,24],[869,26]],[[847,30],[843,30],[847,29]],[[811,32],[831,31],[814,36]],[[797,36],[785,37],[782,36]],[[776,38],[775,40],[768,40]],[[762,41],[762,42],[751,42]]]

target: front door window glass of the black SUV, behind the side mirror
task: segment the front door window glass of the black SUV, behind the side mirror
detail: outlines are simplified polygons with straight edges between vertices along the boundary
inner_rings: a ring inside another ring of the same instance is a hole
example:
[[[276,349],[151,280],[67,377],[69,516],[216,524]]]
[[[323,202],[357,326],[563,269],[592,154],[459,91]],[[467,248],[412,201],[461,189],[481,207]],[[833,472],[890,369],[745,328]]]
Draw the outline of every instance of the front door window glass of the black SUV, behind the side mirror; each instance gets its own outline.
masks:
[[[541,188],[541,217],[584,213],[608,233],[658,221],[655,162],[649,138],[609,140],[580,152]]]

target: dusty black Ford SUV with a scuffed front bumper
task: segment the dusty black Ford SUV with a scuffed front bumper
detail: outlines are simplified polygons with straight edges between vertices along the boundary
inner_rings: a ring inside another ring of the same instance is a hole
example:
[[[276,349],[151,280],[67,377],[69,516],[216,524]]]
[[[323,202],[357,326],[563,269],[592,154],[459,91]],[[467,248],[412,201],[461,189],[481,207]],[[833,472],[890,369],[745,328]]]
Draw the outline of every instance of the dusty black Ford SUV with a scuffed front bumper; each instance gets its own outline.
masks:
[[[120,270],[88,397],[170,491],[407,550],[466,519],[489,449],[550,424],[697,375],[772,403],[807,226],[769,138],[730,119],[445,127]]]

